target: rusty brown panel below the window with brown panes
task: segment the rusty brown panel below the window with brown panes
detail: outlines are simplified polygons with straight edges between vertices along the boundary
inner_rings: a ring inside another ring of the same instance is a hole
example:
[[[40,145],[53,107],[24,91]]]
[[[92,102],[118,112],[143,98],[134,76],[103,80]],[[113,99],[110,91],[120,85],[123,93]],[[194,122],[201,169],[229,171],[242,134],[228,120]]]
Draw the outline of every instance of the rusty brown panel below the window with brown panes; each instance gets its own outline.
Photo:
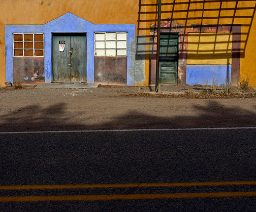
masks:
[[[44,80],[45,76],[43,57],[13,58],[14,83],[38,83],[44,82]]]

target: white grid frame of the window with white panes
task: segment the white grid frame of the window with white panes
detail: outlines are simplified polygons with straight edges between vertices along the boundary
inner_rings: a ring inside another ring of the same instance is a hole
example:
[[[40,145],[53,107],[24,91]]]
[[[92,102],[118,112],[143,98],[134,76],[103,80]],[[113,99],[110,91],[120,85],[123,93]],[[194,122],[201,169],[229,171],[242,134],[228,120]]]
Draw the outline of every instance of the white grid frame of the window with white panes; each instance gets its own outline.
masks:
[[[115,33],[115,40],[106,40],[106,34],[107,33]],[[117,33],[123,33],[126,34],[125,40],[117,40]],[[96,34],[104,34],[104,40],[96,40]],[[105,41],[105,48],[96,48],[95,42],[96,41]],[[106,48],[106,41],[115,41],[115,49]],[[125,48],[117,48],[117,41],[126,41],[126,47]],[[104,50],[105,55],[99,56],[96,55],[96,50]],[[106,50],[115,50],[115,56],[109,56],[106,54]],[[125,55],[117,55],[117,50],[125,50]],[[94,56],[95,57],[127,57],[127,32],[94,32]]]

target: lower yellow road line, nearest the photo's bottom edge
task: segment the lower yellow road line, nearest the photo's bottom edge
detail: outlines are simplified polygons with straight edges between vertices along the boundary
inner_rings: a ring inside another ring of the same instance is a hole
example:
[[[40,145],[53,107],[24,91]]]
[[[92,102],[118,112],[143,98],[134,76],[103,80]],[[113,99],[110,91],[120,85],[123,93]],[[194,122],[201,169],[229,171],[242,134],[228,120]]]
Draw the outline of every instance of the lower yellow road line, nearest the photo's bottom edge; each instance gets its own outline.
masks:
[[[70,196],[9,196],[0,197],[0,202],[37,202],[37,201],[104,201],[129,199],[183,199],[213,197],[252,197],[255,191],[211,192],[211,193],[169,193],[169,194],[126,194],[126,195],[70,195]]]

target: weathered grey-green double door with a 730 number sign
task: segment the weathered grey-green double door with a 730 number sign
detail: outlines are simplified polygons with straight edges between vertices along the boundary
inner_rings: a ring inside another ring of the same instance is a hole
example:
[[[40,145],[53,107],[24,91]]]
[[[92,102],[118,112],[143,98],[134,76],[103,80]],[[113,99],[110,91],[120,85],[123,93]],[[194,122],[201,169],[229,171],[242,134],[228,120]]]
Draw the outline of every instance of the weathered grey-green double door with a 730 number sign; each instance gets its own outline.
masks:
[[[53,81],[86,82],[85,34],[53,35]]]

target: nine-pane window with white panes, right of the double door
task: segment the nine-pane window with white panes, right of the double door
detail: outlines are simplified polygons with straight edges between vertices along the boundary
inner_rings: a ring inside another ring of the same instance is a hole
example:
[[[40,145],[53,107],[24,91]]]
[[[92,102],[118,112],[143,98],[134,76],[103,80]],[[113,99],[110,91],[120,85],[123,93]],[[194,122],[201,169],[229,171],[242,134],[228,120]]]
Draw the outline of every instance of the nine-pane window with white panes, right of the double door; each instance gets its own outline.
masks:
[[[126,56],[127,32],[97,32],[95,56]]]

